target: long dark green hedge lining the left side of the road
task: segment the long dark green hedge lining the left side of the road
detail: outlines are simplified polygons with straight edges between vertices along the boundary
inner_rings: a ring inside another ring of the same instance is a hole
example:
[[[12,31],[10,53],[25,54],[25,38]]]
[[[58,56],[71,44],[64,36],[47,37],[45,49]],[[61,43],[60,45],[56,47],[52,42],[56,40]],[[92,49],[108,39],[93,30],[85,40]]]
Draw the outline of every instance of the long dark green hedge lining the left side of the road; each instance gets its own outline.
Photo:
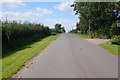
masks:
[[[35,40],[50,35],[50,29],[42,24],[2,22],[3,56],[7,51],[22,47]]]

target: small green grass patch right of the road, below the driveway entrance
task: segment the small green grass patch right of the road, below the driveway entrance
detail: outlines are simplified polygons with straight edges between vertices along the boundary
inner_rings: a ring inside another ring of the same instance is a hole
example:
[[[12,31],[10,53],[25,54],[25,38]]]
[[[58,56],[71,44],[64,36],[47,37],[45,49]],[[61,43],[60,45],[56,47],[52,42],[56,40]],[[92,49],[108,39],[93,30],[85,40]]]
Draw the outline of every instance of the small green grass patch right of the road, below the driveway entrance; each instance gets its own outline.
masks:
[[[106,50],[108,50],[108,51],[110,51],[110,52],[112,52],[114,55],[117,55],[118,56],[118,48],[120,47],[120,46],[118,46],[118,45],[115,45],[115,44],[109,44],[108,42],[107,43],[103,43],[103,44],[99,44],[98,46],[101,46],[102,48],[104,48],[104,49],[106,49]],[[119,52],[119,54],[120,54],[120,52]]]

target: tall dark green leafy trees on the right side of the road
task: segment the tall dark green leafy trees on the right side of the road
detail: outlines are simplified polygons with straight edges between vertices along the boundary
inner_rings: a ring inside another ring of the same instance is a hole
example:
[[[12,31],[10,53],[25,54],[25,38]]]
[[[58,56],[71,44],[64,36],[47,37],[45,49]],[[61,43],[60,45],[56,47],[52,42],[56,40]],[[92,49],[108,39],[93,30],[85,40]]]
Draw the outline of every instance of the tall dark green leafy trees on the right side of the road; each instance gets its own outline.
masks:
[[[120,19],[120,2],[74,2],[79,15],[75,32],[89,34],[91,38],[111,38],[120,35],[117,20]]]

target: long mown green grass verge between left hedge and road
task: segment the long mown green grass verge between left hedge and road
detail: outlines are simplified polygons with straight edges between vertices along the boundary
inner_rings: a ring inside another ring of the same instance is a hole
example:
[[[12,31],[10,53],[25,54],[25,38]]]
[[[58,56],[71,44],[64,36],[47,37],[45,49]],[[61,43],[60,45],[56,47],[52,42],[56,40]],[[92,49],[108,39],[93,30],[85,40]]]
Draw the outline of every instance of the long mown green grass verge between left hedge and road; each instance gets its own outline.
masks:
[[[31,59],[39,51],[45,48],[50,42],[55,40],[60,34],[48,36],[33,44],[25,46],[19,51],[2,59],[2,78],[10,78],[24,65],[24,62]],[[0,60],[1,61],[1,60]]]

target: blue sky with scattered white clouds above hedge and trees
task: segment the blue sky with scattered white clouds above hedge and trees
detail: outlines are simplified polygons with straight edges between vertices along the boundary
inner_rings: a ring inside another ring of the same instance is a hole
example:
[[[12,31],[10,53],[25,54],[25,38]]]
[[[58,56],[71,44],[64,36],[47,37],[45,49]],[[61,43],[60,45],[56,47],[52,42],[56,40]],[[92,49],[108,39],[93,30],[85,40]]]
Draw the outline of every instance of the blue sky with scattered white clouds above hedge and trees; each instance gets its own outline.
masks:
[[[47,2],[48,0],[39,1],[22,1],[22,0],[5,0],[2,2],[0,9],[0,18],[7,20],[21,20],[34,23],[41,23],[50,28],[54,28],[56,23],[62,24],[68,32],[72,28],[76,28],[78,22],[78,15],[70,7],[73,0],[60,0]]]

